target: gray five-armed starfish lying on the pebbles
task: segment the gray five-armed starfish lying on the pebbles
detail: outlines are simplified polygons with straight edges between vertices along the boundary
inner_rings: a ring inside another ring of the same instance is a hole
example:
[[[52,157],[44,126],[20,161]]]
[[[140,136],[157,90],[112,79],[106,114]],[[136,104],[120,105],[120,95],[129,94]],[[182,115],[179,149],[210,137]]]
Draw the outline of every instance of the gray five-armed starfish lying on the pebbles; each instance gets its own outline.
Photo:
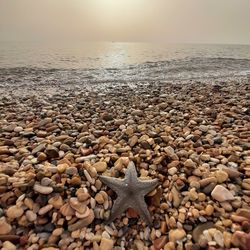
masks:
[[[159,184],[157,179],[139,180],[137,178],[135,165],[132,161],[125,171],[124,179],[108,176],[99,177],[103,183],[113,189],[117,194],[117,199],[114,202],[107,223],[111,223],[117,216],[130,207],[134,208],[148,225],[152,224],[144,196]]]

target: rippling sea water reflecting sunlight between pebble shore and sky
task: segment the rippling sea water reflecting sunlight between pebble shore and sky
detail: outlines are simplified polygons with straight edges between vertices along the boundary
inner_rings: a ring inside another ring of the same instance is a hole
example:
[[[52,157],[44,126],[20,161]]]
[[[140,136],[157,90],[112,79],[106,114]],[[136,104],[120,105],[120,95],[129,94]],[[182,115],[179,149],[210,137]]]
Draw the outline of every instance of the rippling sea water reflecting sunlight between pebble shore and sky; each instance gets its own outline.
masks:
[[[0,83],[249,77],[250,45],[0,43]]]

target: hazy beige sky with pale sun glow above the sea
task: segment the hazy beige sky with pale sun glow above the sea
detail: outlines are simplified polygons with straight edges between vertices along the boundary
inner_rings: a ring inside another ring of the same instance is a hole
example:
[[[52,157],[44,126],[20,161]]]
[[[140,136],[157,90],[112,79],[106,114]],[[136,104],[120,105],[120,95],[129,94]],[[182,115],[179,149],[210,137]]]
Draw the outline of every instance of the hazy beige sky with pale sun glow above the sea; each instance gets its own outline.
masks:
[[[0,0],[0,40],[250,44],[250,0]]]

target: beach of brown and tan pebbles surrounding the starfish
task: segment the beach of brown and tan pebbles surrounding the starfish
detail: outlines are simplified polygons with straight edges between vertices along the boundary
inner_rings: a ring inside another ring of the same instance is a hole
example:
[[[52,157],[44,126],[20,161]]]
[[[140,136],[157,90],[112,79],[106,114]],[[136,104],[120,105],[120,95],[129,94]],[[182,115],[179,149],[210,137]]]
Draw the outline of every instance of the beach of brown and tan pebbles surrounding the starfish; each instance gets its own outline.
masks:
[[[249,83],[2,84],[1,249],[250,249]],[[105,224],[129,161],[152,227]]]

